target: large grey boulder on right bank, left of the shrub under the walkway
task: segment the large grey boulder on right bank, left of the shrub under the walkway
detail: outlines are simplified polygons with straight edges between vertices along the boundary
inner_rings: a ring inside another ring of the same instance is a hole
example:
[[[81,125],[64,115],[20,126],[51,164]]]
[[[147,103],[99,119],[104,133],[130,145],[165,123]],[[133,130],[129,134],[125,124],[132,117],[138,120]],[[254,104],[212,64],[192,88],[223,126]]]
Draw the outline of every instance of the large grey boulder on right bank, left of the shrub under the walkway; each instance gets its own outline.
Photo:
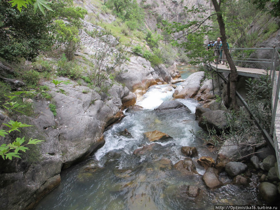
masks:
[[[206,124],[204,124],[204,119]],[[199,119],[198,125],[204,130],[207,130],[208,127],[214,128],[217,131],[222,131],[226,127],[225,111],[214,110],[203,113]]]

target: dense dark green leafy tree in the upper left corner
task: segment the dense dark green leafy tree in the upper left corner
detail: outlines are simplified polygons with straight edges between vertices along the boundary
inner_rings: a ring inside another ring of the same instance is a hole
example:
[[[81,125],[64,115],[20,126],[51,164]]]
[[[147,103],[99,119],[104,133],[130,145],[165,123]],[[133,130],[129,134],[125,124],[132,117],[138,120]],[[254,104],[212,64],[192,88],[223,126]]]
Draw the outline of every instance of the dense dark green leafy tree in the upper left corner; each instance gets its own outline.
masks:
[[[9,62],[18,61],[18,57],[33,61],[54,43],[49,33],[53,16],[53,12],[34,14],[30,6],[20,12],[7,0],[0,1],[0,57]]]

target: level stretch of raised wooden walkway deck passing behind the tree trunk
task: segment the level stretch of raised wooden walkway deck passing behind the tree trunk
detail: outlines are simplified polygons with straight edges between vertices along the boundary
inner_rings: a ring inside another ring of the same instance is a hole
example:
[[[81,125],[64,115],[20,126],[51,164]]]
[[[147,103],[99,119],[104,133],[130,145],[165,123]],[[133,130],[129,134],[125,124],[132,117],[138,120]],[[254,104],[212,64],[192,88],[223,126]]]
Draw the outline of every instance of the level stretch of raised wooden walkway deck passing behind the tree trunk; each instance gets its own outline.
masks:
[[[208,67],[209,64],[207,64]],[[217,72],[229,72],[230,71],[230,68],[226,65],[222,65],[222,64],[214,64],[214,63],[211,63],[211,67],[217,71]],[[242,75],[242,76],[246,76],[246,77],[260,77],[260,76],[264,76],[266,75],[266,71],[264,69],[257,69],[257,68],[243,68],[243,67],[239,67],[239,66],[236,66],[236,69],[237,69],[237,73],[238,75]],[[268,71],[268,74],[269,74],[270,71]]]

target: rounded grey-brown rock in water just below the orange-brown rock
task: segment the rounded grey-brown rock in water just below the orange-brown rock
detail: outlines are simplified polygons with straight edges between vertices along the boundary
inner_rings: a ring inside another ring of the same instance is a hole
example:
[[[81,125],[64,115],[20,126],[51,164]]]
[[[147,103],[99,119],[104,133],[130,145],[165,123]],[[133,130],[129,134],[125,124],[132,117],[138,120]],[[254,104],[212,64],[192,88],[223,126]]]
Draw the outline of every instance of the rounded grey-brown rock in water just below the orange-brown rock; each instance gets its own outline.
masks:
[[[218,170],[215,168],[206,169],[202,180],[209,189],[216,189],[223,185],[218,176]]]

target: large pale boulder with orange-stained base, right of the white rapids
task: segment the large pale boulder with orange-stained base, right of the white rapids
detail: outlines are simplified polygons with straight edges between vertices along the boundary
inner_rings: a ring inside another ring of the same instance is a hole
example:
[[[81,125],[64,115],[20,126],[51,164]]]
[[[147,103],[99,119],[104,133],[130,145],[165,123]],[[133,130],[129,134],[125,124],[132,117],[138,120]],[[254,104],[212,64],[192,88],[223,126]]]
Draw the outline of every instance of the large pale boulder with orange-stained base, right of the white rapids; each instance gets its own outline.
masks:
[[[193,98],[199,88],[200,82],[204,78],[204,72],[195,72],[191,74],[182,84],[183,89],[177,95],[174,95],[175,98]],[[176,91],[176,90],[175,90]]]

